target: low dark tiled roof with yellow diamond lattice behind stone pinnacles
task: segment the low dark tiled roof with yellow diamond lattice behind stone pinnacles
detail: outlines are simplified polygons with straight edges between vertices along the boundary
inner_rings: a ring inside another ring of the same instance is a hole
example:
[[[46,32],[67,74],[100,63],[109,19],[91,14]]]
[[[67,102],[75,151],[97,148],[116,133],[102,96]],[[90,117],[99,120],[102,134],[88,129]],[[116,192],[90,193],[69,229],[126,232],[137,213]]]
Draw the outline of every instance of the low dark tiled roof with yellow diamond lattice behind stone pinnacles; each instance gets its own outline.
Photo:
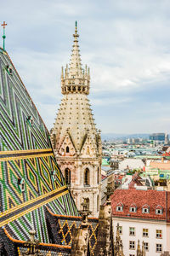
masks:
[[[66,216],[54,214],[48,207],[45,209],[46,219],[48,219],[48,229],[52,231],[53,237],[51,236],[51,243],[40,242],[38,244],[38,250],[41,255],[71,255],[71,243],[74,229],[79,229],[82,224],[82,218],[79,216]],[[97,234],[98,234],[99,219],[88,218],[88,232],[89,232],[89,249],[90,255],[94,256],[94,249],[97,245]],[[11,247],[17,248],[19,255],[26,253],[26,241],[18,240],[11,235],[11,230],[3,227],[0,236],[6,235],[6,241]],[[61,253],[61,254],[59,254]]]

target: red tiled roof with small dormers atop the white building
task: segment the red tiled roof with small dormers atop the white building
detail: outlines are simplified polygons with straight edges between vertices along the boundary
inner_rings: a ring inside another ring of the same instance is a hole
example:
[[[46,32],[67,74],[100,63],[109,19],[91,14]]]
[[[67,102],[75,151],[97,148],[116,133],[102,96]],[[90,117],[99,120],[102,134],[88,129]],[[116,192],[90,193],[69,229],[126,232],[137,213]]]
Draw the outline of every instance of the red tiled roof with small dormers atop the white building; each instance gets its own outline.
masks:
[[[122,203],[122,212],[116,211],[116,206]],[[136,205],[137,211],[130,212],[130,207]],[[148,205],[149,213],[142,213],[142,207]],[[156,207],[163,208],[162,214],[156,214]],[[170,222],[170,191],[116,189],[111,195],[112,214],[124,218],[150,218]]]

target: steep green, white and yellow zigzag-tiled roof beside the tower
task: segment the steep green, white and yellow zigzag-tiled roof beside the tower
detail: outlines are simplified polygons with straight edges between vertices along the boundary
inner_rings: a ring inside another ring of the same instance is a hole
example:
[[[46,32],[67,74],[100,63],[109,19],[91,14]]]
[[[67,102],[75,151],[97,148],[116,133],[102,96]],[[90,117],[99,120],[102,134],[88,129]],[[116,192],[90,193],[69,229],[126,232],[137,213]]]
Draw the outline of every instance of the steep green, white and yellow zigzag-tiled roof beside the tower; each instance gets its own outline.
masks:
[[[0,230],[15,240],[36,230],[49,243],[44,207],[77,216],[51,147],[48,129],[9,55],[0,49]],[[12,254],[11,254],[12,255]]]

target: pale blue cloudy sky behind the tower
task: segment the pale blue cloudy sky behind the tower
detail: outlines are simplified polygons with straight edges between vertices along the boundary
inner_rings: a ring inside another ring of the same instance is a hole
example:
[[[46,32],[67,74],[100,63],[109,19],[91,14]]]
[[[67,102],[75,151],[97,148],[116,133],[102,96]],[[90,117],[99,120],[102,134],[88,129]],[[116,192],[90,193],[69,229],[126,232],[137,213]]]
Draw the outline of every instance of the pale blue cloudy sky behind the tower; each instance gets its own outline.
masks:
[[[77,20],[98,128],[170,132],[169,0],[5,0],[0,20],[8,23],[8,54],[48,129],[62,98],[60,68],[70,61]]]

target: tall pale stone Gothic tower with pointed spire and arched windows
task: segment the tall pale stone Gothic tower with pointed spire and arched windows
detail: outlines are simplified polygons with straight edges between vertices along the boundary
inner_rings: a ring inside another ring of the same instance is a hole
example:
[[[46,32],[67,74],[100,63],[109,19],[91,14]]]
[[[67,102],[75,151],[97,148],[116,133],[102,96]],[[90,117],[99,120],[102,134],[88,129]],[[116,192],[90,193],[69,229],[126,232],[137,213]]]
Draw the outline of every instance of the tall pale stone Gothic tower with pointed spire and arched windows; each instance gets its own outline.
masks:
[[[101,138],[94,124],[88,100],[89,68],[82,68],[79,53],[77,22],[73,34],[70,65],[61,71],[63,99],[51,131],[54,154],[65,182],[81,209],[88,198],[89,210],[97,217],[100,205]]]

